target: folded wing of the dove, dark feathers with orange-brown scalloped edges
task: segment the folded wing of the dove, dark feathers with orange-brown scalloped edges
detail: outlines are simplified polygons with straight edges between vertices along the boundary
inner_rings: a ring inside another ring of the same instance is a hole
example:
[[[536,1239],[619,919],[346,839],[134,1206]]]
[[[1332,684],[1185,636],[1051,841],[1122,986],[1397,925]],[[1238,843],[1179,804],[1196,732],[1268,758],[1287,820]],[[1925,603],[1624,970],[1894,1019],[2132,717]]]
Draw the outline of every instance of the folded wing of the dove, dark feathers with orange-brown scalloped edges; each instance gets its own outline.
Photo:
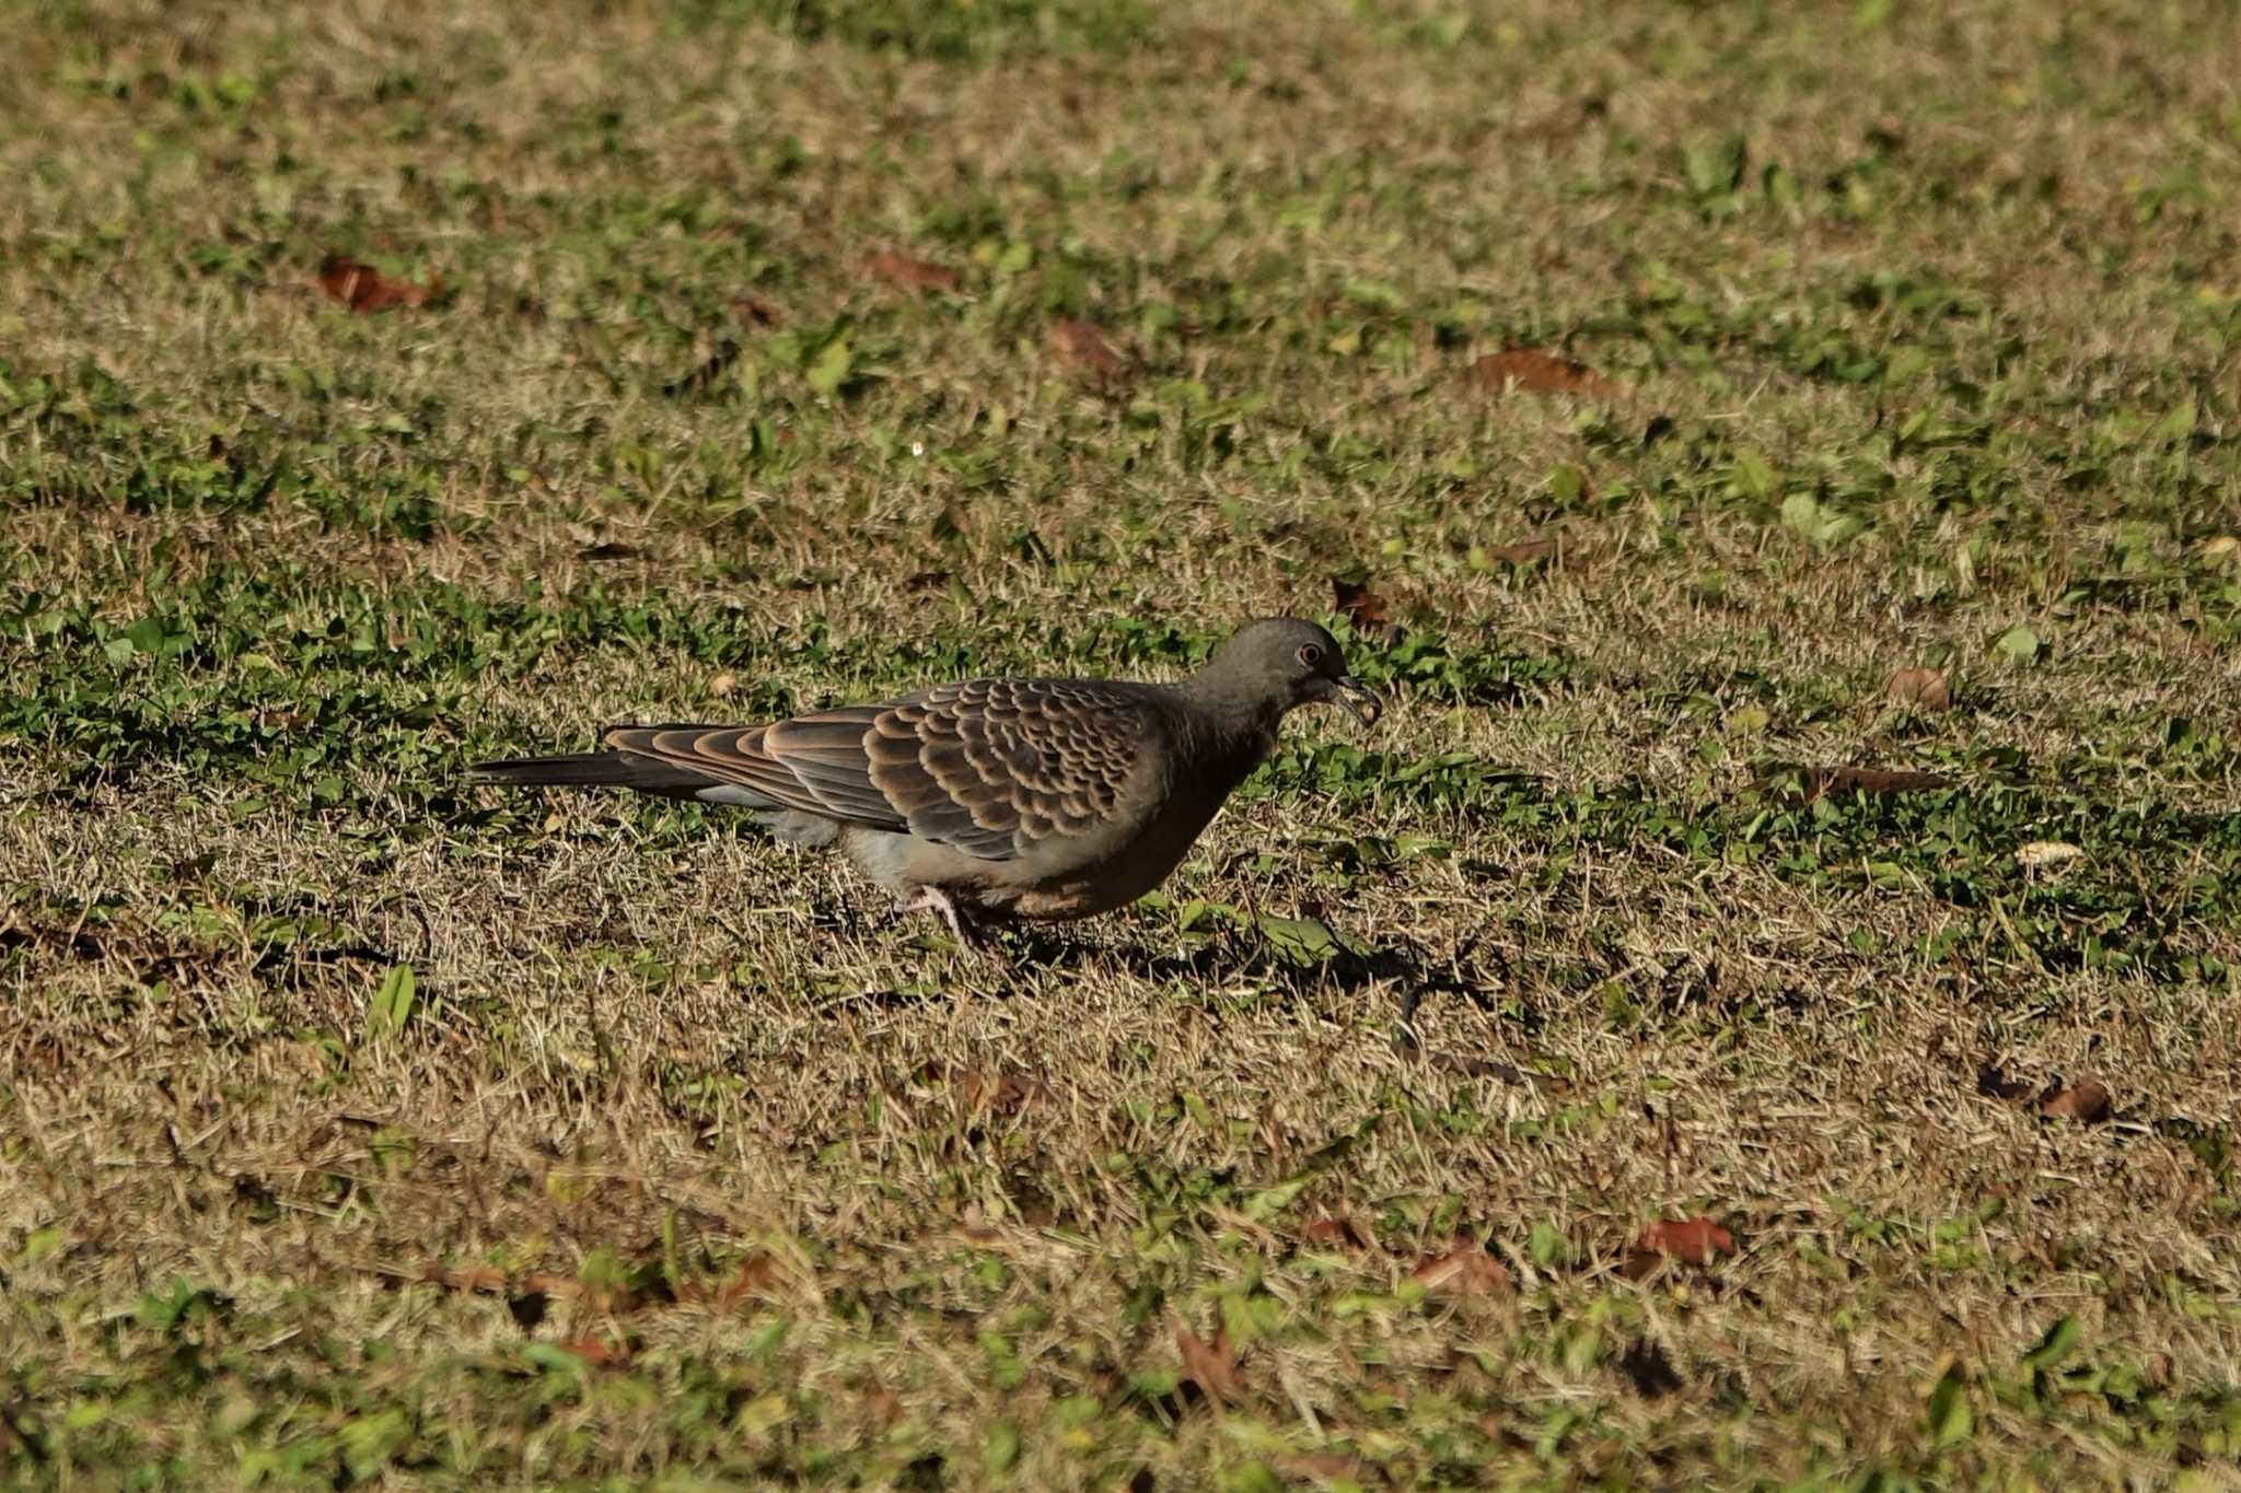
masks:
[[[975,678],[775,725],[625,725],[607,745],[840,824],[1015,860],[1120,817],[1152,732],[1145,703],[1109,685]]]

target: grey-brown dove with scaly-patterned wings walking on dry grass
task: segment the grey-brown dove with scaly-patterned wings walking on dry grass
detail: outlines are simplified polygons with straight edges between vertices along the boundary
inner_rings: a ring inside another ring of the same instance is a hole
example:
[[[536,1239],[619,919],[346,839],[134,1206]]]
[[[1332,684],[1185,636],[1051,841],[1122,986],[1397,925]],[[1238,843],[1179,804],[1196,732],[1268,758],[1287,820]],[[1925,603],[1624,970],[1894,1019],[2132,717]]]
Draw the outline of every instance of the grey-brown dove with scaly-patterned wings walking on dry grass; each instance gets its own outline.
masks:
[[[843,851],[959,945],[1064,922],[1168,880],[1302,705],[1383,703],[1322,627],[1262,618],[1172,685],[968,678],[764,725],[616,725],[596,752],[477,763],[504,786],[612,786],[740,806],[775,839]]]

